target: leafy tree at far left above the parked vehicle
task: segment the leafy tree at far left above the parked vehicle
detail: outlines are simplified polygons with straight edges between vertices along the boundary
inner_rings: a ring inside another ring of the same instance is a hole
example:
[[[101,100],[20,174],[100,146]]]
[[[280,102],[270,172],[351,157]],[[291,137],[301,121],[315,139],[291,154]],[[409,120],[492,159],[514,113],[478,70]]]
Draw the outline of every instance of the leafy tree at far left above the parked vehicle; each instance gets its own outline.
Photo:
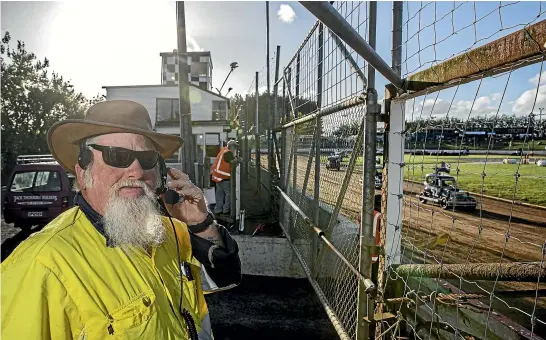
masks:
[[[2,180],[5,182],[18,155],[50,153],[47,132],[56,122],[83,118],[98,95],[86,99],[70,81],[49,71],[49,60],[39,60],[22,41],[10,46],[6,32],[0,45],[2,91]]]

